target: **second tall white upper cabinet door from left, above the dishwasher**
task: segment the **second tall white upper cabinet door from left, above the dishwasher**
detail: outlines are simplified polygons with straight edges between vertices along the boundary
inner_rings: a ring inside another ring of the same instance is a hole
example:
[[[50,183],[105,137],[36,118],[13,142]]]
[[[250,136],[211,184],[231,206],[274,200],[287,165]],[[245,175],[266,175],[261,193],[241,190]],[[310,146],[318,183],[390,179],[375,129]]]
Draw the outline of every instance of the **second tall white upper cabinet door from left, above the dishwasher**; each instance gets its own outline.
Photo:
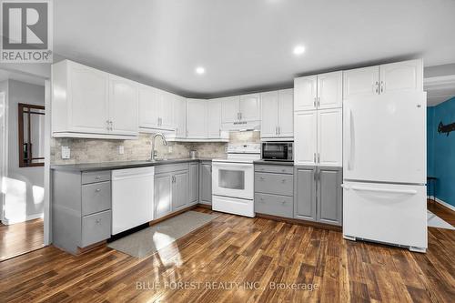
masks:
[[[119,76],[109,76],[109,124],[116,135],[137,134],[137,84]]]

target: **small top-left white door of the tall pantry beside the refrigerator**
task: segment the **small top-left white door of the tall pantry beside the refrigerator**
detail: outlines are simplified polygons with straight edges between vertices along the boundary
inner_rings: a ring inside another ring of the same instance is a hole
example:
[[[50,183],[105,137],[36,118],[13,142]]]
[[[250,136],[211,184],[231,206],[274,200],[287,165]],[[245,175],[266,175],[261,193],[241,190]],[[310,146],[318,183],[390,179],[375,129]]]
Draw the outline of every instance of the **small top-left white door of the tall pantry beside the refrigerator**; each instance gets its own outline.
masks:
[[[316,109],[318,77],[302,76],[294,79],[294,110]]]

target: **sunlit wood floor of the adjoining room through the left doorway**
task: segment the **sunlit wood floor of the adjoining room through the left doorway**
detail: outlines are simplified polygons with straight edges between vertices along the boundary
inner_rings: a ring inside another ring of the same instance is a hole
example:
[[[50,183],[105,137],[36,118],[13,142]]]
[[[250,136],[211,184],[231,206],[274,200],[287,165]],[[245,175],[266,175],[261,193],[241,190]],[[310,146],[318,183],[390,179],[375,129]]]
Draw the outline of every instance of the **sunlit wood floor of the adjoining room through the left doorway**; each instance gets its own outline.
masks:
[[[0,224],[0,261],[43,247],[43,219]]]

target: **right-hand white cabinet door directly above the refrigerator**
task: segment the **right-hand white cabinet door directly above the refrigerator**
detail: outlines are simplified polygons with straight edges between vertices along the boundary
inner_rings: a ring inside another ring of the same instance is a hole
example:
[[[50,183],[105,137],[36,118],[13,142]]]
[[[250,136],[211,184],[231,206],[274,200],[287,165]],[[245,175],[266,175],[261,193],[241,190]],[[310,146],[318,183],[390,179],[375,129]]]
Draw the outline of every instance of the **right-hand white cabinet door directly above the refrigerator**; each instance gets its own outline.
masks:
[[[422,60],[409,60],[379,66],[379,93],[423,90]]]

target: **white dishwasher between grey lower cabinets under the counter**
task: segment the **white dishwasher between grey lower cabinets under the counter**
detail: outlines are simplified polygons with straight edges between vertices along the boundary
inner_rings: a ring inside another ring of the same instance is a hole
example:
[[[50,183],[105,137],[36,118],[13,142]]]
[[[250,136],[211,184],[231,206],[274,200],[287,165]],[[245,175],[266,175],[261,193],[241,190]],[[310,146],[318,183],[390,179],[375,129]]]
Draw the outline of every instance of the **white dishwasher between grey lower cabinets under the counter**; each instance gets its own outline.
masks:
[[[112,235],[154,218],[155,167],[112,170]]]

